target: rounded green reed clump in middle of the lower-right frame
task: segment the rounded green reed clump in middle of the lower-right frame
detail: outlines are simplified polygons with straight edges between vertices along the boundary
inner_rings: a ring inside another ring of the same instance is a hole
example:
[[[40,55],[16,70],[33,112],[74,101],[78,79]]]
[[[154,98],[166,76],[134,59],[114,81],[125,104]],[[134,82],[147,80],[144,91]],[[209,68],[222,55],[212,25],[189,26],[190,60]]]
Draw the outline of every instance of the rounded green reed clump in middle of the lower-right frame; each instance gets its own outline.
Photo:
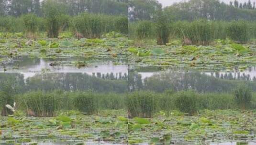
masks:
[[[197,98],[193,91],[182,91],[177,94],[174,100],[175,106],[179,111],[193,115],[197,112]]]

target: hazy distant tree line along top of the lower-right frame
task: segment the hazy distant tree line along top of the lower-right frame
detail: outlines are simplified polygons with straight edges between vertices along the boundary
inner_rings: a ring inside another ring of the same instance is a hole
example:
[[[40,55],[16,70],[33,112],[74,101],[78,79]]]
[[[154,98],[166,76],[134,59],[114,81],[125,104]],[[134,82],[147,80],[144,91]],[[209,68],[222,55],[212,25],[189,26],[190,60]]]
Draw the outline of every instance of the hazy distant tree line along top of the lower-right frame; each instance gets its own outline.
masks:
[[[134,78],[141,77],[135,74]],[[193,89],[198,92],[231,92],[240,83],[249,83],[252,88],[256,88],[256,82],[247,81],[248,75],[241,75],[239,80],[237,76],[232,76],[231,73],[207,75],[204,73],[155,73],[153,76],[145,78],[144,81],[132,79],[129,84],[133,85],[135,90],[151,90],[156,92],[164,92],[165,90],[188,90]],[[223,79],[222,79],[223,78]]]

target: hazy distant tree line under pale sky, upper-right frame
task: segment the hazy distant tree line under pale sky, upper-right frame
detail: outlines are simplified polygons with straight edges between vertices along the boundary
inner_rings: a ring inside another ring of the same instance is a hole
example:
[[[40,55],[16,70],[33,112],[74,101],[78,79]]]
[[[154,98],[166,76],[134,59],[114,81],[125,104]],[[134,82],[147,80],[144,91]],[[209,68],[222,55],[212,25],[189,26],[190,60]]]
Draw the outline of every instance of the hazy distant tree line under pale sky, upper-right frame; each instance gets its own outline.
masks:
[[[198,19],[207,20],[256,20],[255,3],[250,0],[239,3],[238,0],[230,4],[219,0],[189,0],[174,3],[162,8],[157,0],[131,0],[129,4],[129,20],[151,20],[158,16],[158,11],[163,10],[169,21],[194,21]]]

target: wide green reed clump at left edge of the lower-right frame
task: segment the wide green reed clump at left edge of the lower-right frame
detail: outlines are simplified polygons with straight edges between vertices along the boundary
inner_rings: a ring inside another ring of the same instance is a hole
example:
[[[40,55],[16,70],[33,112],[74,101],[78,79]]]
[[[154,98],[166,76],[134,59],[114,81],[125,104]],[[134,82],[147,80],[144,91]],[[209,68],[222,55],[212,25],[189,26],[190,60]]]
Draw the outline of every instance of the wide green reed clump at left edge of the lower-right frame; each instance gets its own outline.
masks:
[[[134,92],[126,100],[130,117],[150,118],[156,113],[156,94],[153,92]]]

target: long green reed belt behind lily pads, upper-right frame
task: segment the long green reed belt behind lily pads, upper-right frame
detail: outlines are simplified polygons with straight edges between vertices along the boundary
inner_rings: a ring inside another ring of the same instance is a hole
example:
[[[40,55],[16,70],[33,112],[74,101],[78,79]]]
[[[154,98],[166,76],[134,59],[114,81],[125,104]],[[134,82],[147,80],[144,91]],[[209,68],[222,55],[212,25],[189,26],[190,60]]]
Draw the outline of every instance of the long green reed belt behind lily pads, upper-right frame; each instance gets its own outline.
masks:
[[[153,26],[153,27],[150,27]],[[168,35],[167,32],[169,31]],[[214,40],[231,39],[246,43],[256,38],[255,21],[136,21],[129,23],[131,39],[156,39],[166,33],[169,39],[188,39],[193,45],[211,45]]]

